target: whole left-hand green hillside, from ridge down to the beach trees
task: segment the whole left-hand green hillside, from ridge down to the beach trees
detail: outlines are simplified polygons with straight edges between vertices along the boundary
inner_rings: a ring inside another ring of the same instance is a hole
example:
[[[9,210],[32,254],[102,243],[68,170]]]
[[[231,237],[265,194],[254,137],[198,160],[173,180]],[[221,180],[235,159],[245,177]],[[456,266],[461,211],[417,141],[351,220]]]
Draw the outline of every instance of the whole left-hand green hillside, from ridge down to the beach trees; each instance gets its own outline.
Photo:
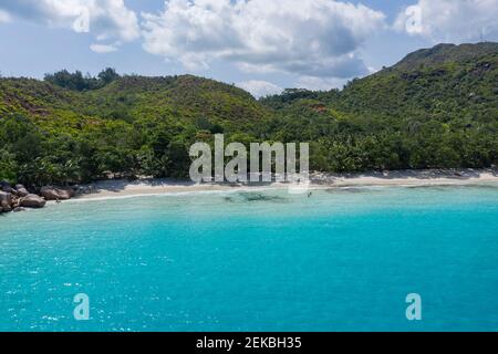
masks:
[[[41,185],[110,173],[185,177],[193,143],[251,132],[268,115],[249,93],[189,75],[80,86],[86,87],[0,80],[0,179]]]

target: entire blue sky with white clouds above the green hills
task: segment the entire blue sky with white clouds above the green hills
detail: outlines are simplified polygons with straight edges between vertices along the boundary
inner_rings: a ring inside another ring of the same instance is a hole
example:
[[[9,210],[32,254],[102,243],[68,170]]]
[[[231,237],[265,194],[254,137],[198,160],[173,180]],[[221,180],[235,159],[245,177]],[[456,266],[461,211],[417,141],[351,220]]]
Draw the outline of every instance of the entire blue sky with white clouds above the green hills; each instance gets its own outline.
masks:
[[[0,0],[0,72],[329,90],[439,42],[498,41],[496,19],[498,0]]]

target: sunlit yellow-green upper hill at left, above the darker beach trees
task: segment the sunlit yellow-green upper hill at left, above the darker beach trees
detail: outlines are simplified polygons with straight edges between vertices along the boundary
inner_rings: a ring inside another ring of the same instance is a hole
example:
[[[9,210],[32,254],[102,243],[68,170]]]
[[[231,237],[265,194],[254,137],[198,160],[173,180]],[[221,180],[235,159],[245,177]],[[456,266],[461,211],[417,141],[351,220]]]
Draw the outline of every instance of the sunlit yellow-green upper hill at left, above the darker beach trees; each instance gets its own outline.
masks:
[[[209,118],[232,128],[263,116],[263,110],[249,93],[212,80],[134,75],[100,82],[81,73],[65,72],[59,77],[61,73],[48,75],[45,81],[0,80],[0,112],[62,123],[71,121],[64,114],[128,123],[148,117],[181,122]]]

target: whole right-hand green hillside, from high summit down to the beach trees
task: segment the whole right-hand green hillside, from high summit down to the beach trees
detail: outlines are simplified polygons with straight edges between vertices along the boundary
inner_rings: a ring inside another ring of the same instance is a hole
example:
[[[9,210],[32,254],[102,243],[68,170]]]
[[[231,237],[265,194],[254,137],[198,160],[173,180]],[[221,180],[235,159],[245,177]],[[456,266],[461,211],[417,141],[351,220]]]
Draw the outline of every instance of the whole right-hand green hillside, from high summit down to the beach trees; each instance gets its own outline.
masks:
[[[282,138],[314,143],[314,168],[488,167],[498,157],[498,44],[442,44],[343,91],[262,103]]]

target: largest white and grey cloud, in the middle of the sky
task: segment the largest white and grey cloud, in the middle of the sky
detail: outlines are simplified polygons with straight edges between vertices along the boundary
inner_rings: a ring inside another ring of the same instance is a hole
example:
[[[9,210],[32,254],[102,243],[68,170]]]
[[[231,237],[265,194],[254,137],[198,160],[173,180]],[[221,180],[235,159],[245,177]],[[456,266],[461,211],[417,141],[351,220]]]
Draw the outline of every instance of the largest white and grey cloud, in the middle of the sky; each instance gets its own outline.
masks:
[[[221,59],[248,72],[329,77],[366,72],[357,50],[385,19],[334,0],[169,0],[143,17],[144,49],[189,70]]]

